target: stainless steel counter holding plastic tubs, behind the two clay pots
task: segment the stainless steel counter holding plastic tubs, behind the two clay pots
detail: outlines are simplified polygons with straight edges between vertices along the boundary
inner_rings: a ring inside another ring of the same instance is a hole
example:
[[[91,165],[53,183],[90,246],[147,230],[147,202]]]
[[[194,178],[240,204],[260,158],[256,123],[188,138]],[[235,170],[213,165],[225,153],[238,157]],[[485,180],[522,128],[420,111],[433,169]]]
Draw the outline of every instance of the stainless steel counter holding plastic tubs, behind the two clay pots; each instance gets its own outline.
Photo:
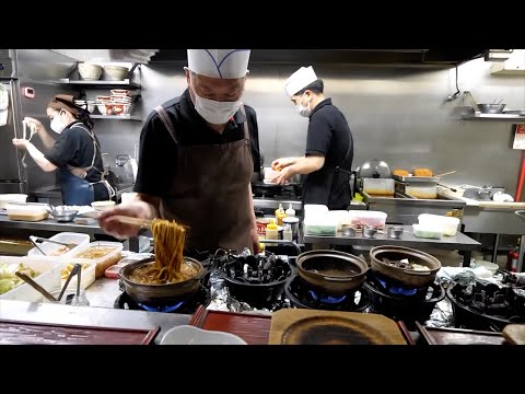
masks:
[[[388,225],[387,225],[388,227]],[[332,245],[352,245],[352,246],[380,246],[380,245],[397,245],[413,248],[441,248],[446,251],[464,251],[463,266],[470,265],[471,252],[479,250],[481,244],[467,235],[457,232],[454,236],[443,236],[440,240],[422,239],[413,235],[411,225],[400,225],[404,228],[404,234],[400,240],[390,239],[386,234],[377,234],[374,239],[368,239],[361,234],[355,236],[343,236],[338,233],[336,236],[313,236],[304,235],[305,244],[325,243]]]

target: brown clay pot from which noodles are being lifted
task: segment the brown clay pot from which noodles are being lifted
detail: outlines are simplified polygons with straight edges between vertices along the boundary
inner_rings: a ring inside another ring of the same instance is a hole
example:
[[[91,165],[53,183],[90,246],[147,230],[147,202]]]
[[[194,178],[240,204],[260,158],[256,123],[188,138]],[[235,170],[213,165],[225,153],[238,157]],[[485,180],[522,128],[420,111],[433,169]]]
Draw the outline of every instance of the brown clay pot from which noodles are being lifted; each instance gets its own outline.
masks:
[[[120,270],[120,286],[133,301],[138,303],[166,305],[170,302],[180,301],[197,292],[200,287],[200,279],[205,276],[206,269],[200,262],[190,257],[184,257],[185,263],[198,269],[197,275],[190,279],[167,285],[142,285],[130,279],[135,269],[154,260],[155,258],[152,257],[130,263]]]

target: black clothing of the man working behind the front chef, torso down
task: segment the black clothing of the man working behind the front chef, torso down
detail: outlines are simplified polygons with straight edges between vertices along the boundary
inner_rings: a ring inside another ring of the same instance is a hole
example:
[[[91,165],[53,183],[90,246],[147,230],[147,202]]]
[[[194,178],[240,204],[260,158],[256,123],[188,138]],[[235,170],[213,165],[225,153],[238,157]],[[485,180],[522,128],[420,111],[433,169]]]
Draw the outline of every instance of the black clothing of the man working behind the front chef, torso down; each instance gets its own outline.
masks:
[[[319,154],[325,157],[325,164],[304,177],[303,204],[345,209],[351,199],[350,176],[335,172],[335,167],[351,171],[353,139],[345,115],[331,99],[323,100],[310,115],[306,155]]]

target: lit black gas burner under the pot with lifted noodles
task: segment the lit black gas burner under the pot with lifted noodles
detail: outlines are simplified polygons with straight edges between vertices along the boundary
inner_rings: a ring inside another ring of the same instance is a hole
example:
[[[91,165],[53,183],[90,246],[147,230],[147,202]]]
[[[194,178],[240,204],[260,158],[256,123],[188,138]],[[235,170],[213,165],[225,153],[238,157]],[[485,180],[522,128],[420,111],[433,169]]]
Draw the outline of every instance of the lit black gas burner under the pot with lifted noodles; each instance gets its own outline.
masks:
[[[210,290],[201,286],[196,293],[189,296],[187,299],[180,300],[178,302],[171,302],[170,305],[138,303],[133,299],[131,299],[131,297],[129,297],[127,292],[124,291],[120,296],[117,297],[113,308],[148,312],[192,314],[195,313],[195,311],[197,311],[197,308],[199,305],[208,306],[210,302]]]

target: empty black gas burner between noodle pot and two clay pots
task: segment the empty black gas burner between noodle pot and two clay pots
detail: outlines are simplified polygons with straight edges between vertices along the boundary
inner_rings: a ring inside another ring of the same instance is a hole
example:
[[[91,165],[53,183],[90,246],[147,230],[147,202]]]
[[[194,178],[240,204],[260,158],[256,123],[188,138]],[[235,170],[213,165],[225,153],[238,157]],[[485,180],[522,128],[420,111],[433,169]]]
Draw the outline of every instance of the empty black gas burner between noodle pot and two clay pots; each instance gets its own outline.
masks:
[[[226,282],[230,294],[250,306],[270,308],[283,293],[287,281],[295,275],[295,268],[280,258],[275,258],[270,268],[269,258],[275,256],[237,257],[224,264],[221,276]],[[262,268],[266,264],[268,268]],[[245,266],[253,275],[245,275]]]

